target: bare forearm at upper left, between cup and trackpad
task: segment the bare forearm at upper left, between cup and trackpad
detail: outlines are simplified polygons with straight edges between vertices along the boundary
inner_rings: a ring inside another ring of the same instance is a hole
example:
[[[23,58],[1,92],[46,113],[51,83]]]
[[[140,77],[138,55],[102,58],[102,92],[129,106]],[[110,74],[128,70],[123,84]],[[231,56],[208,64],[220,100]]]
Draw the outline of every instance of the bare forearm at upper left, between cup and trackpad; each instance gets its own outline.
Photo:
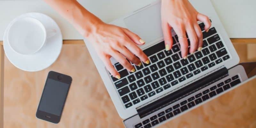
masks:
[[[102,21],[87,11],[76,0],[44,0],[67,19],[80,34],[87,37]]]

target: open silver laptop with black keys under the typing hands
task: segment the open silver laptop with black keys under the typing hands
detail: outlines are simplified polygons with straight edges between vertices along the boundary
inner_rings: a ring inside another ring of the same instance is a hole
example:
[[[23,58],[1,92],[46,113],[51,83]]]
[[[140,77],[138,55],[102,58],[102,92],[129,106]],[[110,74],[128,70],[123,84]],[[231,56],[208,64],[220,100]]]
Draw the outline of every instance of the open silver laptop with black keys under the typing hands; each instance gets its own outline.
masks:
[[[243,66],[237,65],[239,57],[210,0],[190,0],[190,3],[210,17],[212,26],[206,33],[204,23],[198,22],[203,33],[203,48],[188,55],[186,60],[181,57],[179,40],[173,30],[172,50],[165,51],[161,0],[111,22],[144,39],[146,44],[140,48],[150,60],[140,67],[131,63],[136,69],[131,73],[111,58],[121,75],[120,80],[110,75],[93,46],[84,39],[119,116],[125,119],[125,127],[159,126],[248,79]]]

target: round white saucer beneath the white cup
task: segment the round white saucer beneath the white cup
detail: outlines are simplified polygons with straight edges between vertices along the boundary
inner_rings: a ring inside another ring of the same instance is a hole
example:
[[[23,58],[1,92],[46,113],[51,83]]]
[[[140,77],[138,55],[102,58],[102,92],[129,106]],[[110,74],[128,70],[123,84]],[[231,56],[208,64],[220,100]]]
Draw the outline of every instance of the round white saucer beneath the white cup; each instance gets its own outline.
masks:
[[[56,35],[50,37],[45,42],[44,47],[33,55],[22,55],[17,52],[14,52],[7,42],[7,33],[10,28],[10,24],[5,29],[4,32],[4,52],[10,62],[17,68],[20,68],[24,71],[40,71],[43,70],[53,64],[53,62],[60,55],[61,47],[62,47],[62,35],[59,26],[57,23],[52,20],[51,17],[42,14],[42,13],[26,13],[20,15],[19,17],[33,17],[37,20],[41,21],[46,29],[55,29],[57,31]],[[17,17],[17,18],[19,18]]]

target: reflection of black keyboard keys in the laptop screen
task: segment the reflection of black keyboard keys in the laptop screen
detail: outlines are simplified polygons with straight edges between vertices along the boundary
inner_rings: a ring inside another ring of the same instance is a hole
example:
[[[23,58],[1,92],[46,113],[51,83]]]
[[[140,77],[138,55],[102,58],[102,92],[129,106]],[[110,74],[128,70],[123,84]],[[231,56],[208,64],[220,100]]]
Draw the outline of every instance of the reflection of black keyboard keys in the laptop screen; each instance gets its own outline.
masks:
[[[203,101],[208,100],[209,98],[212,98],[219,93],[226,91],[235,85],[241,83],[239,76],[235,75],[231,78],[228,78],[224,80],[223,82],[220,82],[216,85],[213,85],[209,89],[202,89],[204,91],[197,93],[196,95],[189,97],[186,100],[181,101],[178,104],[173,105],[170,108],[165,109],[164,111],[149,117],[148,119],[144,119],[142,122],[137,123],[134,125],[135,128],[150,128],[152,126],[155,126],[173,116],[176,116],[183,111],[192,108]],[[195,92],[196,93],[196,92]],[[144,127],[143,127],[144,126]]]

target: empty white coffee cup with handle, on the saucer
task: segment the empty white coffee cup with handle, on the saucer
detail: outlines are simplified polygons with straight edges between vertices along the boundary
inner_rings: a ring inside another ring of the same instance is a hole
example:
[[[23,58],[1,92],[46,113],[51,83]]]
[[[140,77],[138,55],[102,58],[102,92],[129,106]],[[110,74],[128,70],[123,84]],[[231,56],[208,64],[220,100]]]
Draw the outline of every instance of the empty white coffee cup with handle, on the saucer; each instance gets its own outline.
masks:
[[[55,34],[55,29],[46,30],[39,20],[22,17],[13,21],[7,39],[13,51],[29,55],[38,52],[44,46],[46,39]]]

